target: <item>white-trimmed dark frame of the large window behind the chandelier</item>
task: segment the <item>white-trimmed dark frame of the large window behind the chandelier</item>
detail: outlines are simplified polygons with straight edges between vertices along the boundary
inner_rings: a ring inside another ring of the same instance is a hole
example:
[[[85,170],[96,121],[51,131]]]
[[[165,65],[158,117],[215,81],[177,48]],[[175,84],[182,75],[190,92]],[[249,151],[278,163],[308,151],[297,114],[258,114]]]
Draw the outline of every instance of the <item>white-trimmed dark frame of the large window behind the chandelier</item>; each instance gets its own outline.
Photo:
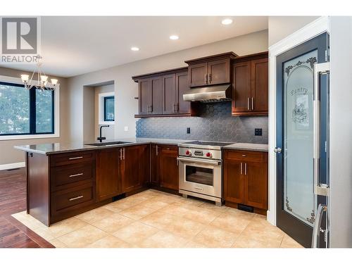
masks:
[[[8,77],[0,75],[1,84],[9,84],[15,87],[23,87],[24,84],[20,78]],[[56,87],[53,92],[52,99],[52,131],[51,132],[39,132],[35,131],[36,127],[36,111],[35,111],[35,92],[36,89],[30,89],[30,132],[20,133],[20,134],[0,134],[0,142],[2,140],[12,140],[12,139],[41,139],[41,138],[54,138],[60,137],[60,88]],[[34,99],[34,100],[33,100]],[[34,106],[32,106],[34,104]],[[34,133],[33,133],[34,132]]]

